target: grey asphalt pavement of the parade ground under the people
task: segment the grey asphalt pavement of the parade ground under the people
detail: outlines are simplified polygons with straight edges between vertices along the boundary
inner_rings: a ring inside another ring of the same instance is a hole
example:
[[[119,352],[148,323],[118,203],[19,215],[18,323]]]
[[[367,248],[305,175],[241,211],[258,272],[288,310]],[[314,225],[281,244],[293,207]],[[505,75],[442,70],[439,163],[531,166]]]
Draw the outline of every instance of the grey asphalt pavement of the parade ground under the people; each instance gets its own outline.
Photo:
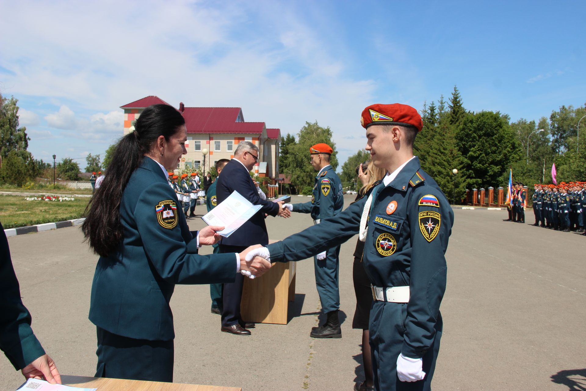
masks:
[[[294,196],[292,202],[309,198]],[[345,197],[347,206],[353,196]],[[196,212],[205,208],[197,206]],[[442,301],[444,335],[434,390],[586,389],[586,237],[503,222],[506,210],[454,210]],[[533,216],[527,220],[533,222]],[[190,219],[190,227],[203,226]],[[312,225],[309,215],[268,217],[271,239]],[[61,373],[93,376],[96,328],[87,319],[97,256],[79,227],[9,237],[33,330]],[[352,253],[340,251],[342,339],[313,339],[319,298],[313,261],[298,263],[287,325],[259,324],[251,336],[220,332],[208,285],[178,285],[175,375],[179,383],[251,390],[352,390],[362,381],[362,331],[352,329]],[[204,247],[202,253],[210,253]],[[0,384],[23,381],[0,358]]]

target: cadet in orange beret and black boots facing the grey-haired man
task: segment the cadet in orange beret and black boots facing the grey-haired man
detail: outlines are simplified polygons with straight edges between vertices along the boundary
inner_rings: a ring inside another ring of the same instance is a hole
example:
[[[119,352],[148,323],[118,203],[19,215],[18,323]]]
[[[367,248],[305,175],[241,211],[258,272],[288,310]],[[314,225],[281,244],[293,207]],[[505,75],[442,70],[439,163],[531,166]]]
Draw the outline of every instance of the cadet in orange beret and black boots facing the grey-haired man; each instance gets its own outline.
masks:
[[[314,191],[311,202],[286,204],[291,212],[311,213],[314,224],[321,219],[332,217],[342,211],[344,198],[342,182],[329,164],[333,149],[328,144],[315,144],[309,148],[311,165],[318,175],[315,176]],[[326,314],[325,324],[314,327],[314,338],[342,338],[342,329],[338,313],[340,311],[339,262],[340,246],[332,247],[314,257],[315,285],[318,289],[322,311]]]

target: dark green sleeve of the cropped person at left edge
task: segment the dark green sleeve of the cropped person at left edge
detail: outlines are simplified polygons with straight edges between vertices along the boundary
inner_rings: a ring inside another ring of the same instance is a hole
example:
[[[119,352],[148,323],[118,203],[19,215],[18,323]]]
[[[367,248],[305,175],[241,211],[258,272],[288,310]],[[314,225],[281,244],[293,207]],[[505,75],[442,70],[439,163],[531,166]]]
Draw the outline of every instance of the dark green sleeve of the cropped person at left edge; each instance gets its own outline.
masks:
[[[30,328],[30,312],[22,304],[2,224],[0,230],[0,349],[18,370],[44,355],[45,351]]]

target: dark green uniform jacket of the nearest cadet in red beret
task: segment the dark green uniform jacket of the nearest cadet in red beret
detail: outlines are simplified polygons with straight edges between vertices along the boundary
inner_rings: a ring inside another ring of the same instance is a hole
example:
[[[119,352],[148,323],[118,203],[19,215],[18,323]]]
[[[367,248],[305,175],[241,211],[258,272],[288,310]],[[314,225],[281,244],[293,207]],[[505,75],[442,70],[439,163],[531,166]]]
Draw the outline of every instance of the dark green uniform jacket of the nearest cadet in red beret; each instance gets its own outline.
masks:
[[[269,244],[271,261],[306,259],[350,239],[359,231],[365,202],[366,197],[319,225]],[[448,200],[421,169],[418,158],[408,162],[389,185],[374,188],[364,269],[377,287],[411,287],[406,314],[398,319],[404,329],[404,356],[423,357],[434,344],[436,324],[441,327],[440,302],[447,276],[444,254],[453,224]],[[393,328],[389,325],[389,329]]]

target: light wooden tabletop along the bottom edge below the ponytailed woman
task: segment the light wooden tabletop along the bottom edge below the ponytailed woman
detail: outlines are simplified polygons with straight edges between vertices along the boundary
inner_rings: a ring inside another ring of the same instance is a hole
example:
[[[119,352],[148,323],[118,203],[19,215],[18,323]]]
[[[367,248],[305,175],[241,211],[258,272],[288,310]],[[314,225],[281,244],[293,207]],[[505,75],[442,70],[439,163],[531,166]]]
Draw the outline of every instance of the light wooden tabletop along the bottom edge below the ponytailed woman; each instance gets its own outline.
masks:
[[[73,387],[97,388],[98,391],[242,391],[240,387],[200,386],[196,384],[147,382],[87,376],[61,375],[63,384]]]

